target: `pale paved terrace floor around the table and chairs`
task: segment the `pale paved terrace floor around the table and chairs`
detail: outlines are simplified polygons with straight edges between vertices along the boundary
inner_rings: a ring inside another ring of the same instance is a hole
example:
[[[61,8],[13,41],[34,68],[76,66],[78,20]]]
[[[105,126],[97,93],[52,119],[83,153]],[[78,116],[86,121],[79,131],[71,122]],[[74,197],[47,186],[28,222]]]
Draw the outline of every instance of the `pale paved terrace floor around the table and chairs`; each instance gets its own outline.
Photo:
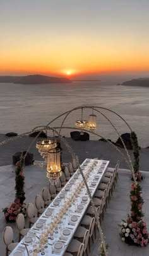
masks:
[[[15,167],[6,165],[0,167],[0,208],[9,207],[15,198]],[[39,166],[25,167],[25,193],[26,202],[35,202],[35,196],[41,193],[44,186],[48,186],[49,181],[46,178],[46,171]],[[143,172],[145,179],[140,183],[143,191],[143,212],[148,231],[149,231],[149,173]],[[125,219],[130,212],[129,191],[131,187],[130,173],[128,170],[119,169],[119,180],[116,184],[116,189],[112,199],[107,207],[104,221],[102,222],[102,230],[104,232],[105,241],[109,245],[109,256],[148,256],[149,248],[138,248],[122,243],[119,237],[119,226],[121,219]],[[0,256],[5,255],[5,246],[2,240],[2,233],[5,226],[9,226],[4,222],[4,215],[0,215]],[[15,241],[17,241],[17,232],[15,224],[10,224],[14,229]],[[90,255],[99,255],[100,241],[96,240],[92,245],[92,253]]]

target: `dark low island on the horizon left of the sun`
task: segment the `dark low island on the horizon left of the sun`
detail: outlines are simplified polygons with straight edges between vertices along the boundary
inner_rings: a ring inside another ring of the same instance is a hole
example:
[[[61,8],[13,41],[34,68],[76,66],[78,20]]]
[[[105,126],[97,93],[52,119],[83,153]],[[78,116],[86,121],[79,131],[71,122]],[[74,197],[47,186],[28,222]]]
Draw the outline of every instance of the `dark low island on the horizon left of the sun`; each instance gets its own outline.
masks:
[[[47,75],[0,76],[0,82],[13,84],[61,84],[70,83],[65,77],[49,77]]]

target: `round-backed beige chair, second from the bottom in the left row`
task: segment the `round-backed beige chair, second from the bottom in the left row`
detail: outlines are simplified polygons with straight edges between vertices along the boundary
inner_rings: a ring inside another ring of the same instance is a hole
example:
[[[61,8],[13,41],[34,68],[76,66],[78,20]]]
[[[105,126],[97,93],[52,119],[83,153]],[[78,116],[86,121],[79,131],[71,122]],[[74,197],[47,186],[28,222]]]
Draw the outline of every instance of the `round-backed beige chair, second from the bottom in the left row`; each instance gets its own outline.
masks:
[[[25,228],[25,217],[23,214],[18,214],[16,217],[16,228],[18,229],[18,242],[21,240],[21,236],[25,236],[30,229]]]

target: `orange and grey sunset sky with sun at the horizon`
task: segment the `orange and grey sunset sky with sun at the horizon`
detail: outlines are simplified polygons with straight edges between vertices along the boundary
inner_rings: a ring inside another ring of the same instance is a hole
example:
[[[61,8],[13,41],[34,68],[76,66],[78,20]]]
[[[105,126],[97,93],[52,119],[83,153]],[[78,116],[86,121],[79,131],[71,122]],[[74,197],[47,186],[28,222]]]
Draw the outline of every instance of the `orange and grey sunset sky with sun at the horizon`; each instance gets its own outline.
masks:
[[[0,0],[0,74],[149,70],[148,0]]]

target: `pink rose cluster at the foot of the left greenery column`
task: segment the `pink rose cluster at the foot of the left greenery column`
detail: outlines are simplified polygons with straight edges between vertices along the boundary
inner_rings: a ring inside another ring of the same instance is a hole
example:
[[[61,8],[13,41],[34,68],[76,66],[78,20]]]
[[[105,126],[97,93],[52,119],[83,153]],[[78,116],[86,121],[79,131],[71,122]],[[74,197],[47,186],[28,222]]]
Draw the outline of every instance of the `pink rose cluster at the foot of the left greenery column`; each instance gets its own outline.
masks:
[[[15,222],[18,214],[23,214],[27,217],[27,205],[25,203],[21,204],[20,199],[16,198],[9,208],[3,209],[3,212],[6,222]]]

